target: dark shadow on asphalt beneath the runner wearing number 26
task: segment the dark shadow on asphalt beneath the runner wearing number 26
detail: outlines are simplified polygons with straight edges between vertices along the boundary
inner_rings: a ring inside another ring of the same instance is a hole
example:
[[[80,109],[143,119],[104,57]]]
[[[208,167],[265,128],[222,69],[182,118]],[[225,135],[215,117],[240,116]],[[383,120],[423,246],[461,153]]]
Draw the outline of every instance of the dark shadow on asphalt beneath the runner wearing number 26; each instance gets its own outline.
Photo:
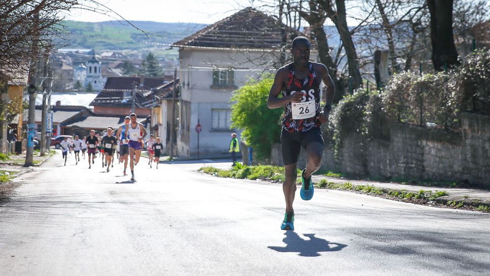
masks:
[[[286,238],[282,241],[286,244],[285,247],[268,246],[268,248],[277,252],[298,252],[300,256],[317,257],[320,256],[319,252],[340,251],[347,246],[316,238],[315,234],[303,234],[309,240],[303,240],[294,231],[286,231],[284,234]]]

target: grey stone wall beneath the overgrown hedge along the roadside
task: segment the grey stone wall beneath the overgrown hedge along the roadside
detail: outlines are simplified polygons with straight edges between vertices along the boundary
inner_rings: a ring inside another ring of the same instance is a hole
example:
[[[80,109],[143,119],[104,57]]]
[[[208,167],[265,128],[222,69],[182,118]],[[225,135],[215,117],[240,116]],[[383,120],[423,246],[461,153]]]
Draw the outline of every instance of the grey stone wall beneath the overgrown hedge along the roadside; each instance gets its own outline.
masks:
[[[359,135],[345,135],[340,158],[334,158],[331,141],[325,141],[322,170],[356,176],[431,179],[490,184],[490,116],[464,113],[462,135],[437,129],[393,124],[390,138],[362,143]],[[271,156],[281,166],[280,145]],[[301,152],[298,166],[304,167]]]

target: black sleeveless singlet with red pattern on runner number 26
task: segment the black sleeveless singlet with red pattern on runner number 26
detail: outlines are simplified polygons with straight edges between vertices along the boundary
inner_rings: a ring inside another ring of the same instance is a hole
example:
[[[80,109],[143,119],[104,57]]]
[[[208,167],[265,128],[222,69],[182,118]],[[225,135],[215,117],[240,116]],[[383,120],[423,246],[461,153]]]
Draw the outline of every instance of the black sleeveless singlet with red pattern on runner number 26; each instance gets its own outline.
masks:
[[[282,97],[289,96],[296,92],[304,92],[306,96],[303,97],[301,102],[308,102],[315,100],[315,115],[307,119],[294,120],[292,112],[292,102],[284,105],[284,117],[282,119],[282,127],[289,132],[306,132],[314,127],[320,126],[320,121],[316,119],[320,114],[320,85],[317,81],[315,70],[313,70],[313,64],[308,62],[308,69],[310,73],[303,80],[300,80],[295,72],[293,63],[288,66],[288,84],[282,91]]]

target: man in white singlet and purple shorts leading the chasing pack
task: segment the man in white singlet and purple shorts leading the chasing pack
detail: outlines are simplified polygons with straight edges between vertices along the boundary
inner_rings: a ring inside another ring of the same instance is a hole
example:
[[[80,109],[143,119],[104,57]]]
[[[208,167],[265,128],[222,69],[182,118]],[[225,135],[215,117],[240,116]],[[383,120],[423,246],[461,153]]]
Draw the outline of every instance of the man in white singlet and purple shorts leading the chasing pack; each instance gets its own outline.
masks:
[[[130,168],[131,168],[131,180],[135,180],[134,166],[138,165],[141,156],[141,141],[146,136],[146,129],[141,123],[136,122],[137,117],[135,113],[130,114],[131,123],[126,125],[125,137],[129,140],[129,155],[130,155]],[[136,158],[134,155],[136,154]]]

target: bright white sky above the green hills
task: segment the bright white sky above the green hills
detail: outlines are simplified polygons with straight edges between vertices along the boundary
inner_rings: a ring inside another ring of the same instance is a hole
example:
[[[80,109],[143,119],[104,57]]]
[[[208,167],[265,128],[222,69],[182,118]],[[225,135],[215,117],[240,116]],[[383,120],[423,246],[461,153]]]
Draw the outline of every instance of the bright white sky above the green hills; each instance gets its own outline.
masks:
[[[212,24],[249,7],[251,0],[98,0],[130,21],[191,22]],[[85,3],[88,3],[87,1]],[[93,4],[91,5],[93,6]],[[112,16],[116,17],[115,14]],[[68,20],[100,22],[116,18],[73,9]],[[119,18],[117,18],[119,19]]]

